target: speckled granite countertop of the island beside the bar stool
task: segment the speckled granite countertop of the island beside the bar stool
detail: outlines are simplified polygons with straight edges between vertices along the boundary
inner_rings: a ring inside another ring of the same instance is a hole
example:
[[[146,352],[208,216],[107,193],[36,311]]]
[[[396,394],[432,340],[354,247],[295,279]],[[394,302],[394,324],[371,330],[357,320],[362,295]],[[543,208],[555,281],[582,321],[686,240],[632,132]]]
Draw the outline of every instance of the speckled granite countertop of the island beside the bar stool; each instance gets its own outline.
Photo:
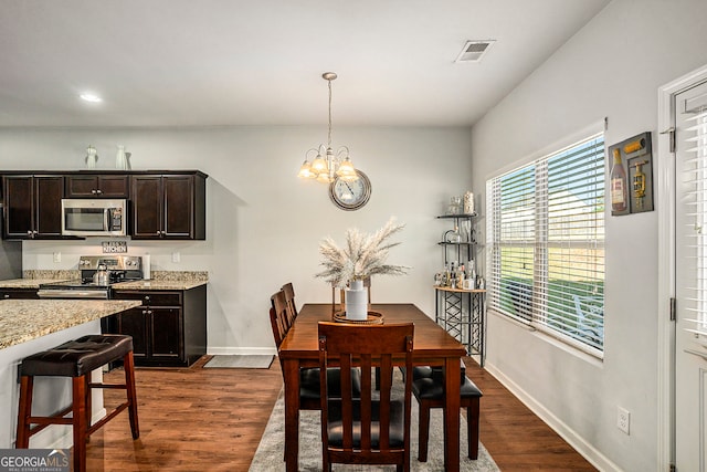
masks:
[[[128,300],[2,300],[0,349],[141,304]]]

